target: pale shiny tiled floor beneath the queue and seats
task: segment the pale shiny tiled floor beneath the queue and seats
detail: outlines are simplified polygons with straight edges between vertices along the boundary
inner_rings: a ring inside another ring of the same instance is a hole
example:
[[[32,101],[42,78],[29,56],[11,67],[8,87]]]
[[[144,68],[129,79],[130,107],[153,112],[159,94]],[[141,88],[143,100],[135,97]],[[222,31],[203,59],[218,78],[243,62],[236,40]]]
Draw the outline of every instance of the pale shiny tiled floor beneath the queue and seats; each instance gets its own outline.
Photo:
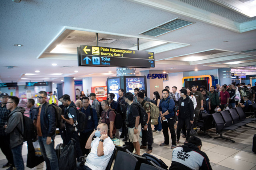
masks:
[[[256,127],[255,123],[250,123],[249,125]],[[215,129],[210,129],[207,131],[212,138],[198,136],[202,140],[202,151],[204,151],[209,159],[214,170],[256,170],[256,154],[252,152],[252,137],[256,134],[256,129],[249,127],[242,127],[236,131],[227,131],[224,133],[225,137],[231,138],[236,141],[231,143],[230,141],[225,141],[222,139],[214,139],[217,137]],[[170,133],[169,133],[170,135]],[[152,155],[159,159],[162,159],[168,166],[171,165],[172,161],[172,150],[170,146],[160,147],[159,144],[164,141],[164,136],[162,132],[153,132],[154,143]],[[182,145],[185,138],[180,138],[179,145]],[[141,138],[140,138],[141,140]],[[58,143],[62,143],[60,136],[55,139],[55,146]],[[121,140],[121,145],[124,144]],[[170,142],[171,143],[171,142]],[[144,154],[146,149],[141,149],[140,154]],[[22,148],[22,155],[24,162],[26,162],[27,146],[24,143]],[[0,167],[7,162],[4,154],[0,151]],[[26,163],[25,163],[26,167]],[[7,168],[0,168],[1,170]],[[33,169],[46,170],[45,163],[38,165]],[[25,168],[25,170],[30,170],[30,168]]]

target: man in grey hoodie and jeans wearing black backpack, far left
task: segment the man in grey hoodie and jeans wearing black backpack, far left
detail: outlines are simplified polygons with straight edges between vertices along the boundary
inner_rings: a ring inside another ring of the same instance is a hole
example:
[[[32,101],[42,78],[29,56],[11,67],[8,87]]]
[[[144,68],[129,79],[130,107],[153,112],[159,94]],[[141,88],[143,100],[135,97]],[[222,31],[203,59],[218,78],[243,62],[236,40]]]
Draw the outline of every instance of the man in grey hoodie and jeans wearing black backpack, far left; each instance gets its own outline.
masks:
[[[19,98],[16,96],[10,96],[6,104],[6,108],[10,110],[11,113],[8,115],[8,122],[4,127],[5,132],[10,133],[10,147],[12,150],[14,165],[17,170],[24,170],[24,162],[22,159],[22,134],[24,133],[22,113],[24,113],[25,109],[18,106],[19,102]]]

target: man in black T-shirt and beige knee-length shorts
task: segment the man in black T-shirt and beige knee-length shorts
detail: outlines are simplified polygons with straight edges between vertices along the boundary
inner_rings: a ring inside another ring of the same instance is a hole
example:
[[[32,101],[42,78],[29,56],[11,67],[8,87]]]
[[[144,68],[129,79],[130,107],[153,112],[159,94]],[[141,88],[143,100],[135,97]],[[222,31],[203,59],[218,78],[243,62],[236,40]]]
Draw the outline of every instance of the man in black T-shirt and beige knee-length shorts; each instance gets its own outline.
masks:
[[[128,135],[129,139],[133,142],[135,149],[135,154],[140,155],[140,109],[138,104],[133,103],[133,94],[128,92],[124,95],[124,100],[127,105],[127,116],[126,116],[126,125],[128,126]]]

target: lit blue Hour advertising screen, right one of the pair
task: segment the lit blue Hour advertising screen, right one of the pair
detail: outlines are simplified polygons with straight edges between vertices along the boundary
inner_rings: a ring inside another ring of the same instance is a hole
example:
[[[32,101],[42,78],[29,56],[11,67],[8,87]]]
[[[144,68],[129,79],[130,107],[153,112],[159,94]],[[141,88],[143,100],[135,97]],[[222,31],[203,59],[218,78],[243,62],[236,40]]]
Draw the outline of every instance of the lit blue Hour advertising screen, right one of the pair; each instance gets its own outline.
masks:
[[[145,79],[144,77],[129,77],[126,78],[126,93],[131,92],[134,94],[134,88],[145,90]]]

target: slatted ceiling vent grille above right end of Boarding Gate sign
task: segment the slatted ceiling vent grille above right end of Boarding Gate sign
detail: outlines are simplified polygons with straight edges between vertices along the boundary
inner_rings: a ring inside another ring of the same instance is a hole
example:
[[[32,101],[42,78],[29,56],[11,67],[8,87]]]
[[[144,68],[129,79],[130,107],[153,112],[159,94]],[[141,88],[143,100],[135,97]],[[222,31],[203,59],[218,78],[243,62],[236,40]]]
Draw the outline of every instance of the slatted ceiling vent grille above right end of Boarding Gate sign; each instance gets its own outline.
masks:
[[[168,33],[170,31],[179,29],[181,27],[184,27],[184,26],[190,25],[190,24],[192,24],[192,22],[176,19],[176,20],[172,20],[170,22],[164,23],[160,26],[154,27],[154,28],[152,28],[148,31],[145,31],[143,33],[140,33],[140,34],[157,37],[164,33]]]

